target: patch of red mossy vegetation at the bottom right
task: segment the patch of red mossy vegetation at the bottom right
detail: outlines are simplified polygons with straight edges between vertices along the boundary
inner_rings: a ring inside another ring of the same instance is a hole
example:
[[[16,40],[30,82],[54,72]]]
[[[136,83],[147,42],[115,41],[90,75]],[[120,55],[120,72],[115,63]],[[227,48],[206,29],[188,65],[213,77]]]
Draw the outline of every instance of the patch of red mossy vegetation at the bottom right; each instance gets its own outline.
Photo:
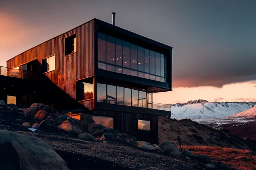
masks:
[[[212,162],[221,161],[239,170],[256,170],[256,156],[249,150],[209,146],[182,146],[194,155],[207,155]]]

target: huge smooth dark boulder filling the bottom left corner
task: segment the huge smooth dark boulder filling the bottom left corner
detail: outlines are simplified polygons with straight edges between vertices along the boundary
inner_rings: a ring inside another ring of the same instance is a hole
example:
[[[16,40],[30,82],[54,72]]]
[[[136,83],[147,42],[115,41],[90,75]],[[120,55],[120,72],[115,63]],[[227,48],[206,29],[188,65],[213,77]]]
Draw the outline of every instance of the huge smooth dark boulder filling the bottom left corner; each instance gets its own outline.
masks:
[[[68,170],[65,161],[36,137],[0,130],[0,169]]]

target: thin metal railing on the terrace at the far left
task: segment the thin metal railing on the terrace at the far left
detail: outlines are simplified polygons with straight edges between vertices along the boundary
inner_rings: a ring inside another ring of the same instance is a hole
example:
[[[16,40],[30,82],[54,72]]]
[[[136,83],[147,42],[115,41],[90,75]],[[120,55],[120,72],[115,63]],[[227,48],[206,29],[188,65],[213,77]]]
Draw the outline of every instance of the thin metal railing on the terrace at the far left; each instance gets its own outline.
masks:
[[[9,76],[9,77],[16,77],[21,79],[30,79],[35,78],[35,73],[21,70],[21,69],[11,69],[7,67],[0,66],[0,75],[2,76]]]

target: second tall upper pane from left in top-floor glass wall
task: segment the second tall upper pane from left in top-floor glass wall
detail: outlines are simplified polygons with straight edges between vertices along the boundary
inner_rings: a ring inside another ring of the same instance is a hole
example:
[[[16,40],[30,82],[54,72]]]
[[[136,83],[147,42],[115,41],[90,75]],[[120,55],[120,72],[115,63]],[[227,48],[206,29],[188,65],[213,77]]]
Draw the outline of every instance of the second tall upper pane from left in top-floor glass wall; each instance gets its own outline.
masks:
[[[115,64],[115,38],[107,36],[107,58],[106,62]]]

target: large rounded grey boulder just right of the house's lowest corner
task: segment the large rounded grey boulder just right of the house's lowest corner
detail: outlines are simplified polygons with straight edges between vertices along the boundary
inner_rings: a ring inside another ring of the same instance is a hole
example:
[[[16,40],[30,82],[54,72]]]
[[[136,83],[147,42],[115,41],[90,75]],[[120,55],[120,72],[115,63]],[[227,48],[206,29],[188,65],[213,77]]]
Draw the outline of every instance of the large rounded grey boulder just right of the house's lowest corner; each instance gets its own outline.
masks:
[[[163,141],[159,144],[159,147],[163,150],[163,152],[167,155],[173,155],[176,157],[181,157],[181,153],[178,149],[177,144],[170,141]]]

